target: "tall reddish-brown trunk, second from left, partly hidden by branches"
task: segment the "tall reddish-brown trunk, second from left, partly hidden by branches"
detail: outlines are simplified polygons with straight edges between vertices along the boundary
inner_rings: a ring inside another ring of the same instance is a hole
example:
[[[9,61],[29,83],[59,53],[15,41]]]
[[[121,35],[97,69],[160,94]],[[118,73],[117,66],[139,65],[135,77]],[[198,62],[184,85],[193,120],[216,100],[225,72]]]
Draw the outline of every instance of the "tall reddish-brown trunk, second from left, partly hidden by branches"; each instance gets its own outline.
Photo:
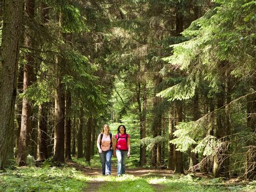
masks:
[[[35,0],[26,1],[26,17],[28,19],[34,19],[35,17]],[[33,36],[31,30],[27,30],[27,36],[25,37],[25,46],[33,47]],[[31,54],[25,55],[25,60],[27,62],[24,65],[24,78],[23,78],[23,92],[26,92],[28,87],[35,81],[34,73],[34,58]],[[22,102],[22,115],[21,115],[21,130],[19,147],[16,162],[20,165],[26,165],[27,155],[28,155],[28,145],[31,139],[32,126],[33,126],[33,103],[31,103],[26,97],[23,98]]]

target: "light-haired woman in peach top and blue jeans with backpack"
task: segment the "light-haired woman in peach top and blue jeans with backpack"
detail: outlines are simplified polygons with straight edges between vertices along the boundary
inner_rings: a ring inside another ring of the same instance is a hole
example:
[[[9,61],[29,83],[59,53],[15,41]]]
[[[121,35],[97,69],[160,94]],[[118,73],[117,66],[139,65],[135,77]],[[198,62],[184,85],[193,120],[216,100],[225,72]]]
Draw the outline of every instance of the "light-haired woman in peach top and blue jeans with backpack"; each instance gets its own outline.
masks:
[[[99,149],[102,175],[111,174],[111,157],[113,154],[113,135],[109,132],[108,124],[103,125],[103,129],[98,136],[97,147]]]

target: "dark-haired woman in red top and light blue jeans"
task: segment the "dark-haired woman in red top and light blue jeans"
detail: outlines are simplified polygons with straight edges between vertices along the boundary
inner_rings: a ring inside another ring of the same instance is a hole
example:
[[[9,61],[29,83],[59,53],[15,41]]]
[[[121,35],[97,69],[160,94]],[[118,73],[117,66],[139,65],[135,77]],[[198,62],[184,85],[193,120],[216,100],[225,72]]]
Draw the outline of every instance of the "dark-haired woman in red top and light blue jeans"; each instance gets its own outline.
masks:
[[[117,157],[117,176],[121,176],[125,174],[125,161],[130,156],[131,149],[130,135],[126,134],[124,125],[119,125],[117,128],[113,149]]]

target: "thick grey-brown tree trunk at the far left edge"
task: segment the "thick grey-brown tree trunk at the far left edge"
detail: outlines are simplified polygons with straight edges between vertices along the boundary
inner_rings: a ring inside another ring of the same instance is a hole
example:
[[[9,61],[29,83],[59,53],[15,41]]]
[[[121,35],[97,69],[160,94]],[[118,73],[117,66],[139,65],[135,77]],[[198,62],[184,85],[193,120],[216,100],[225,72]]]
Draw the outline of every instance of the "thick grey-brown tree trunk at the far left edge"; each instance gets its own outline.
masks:
[[[0,169],[4,168],[9,136],[14,131],[14,106],[17,94],[19,39],[22,2],[6,1],[3,10],[3,30],[0,61]]]

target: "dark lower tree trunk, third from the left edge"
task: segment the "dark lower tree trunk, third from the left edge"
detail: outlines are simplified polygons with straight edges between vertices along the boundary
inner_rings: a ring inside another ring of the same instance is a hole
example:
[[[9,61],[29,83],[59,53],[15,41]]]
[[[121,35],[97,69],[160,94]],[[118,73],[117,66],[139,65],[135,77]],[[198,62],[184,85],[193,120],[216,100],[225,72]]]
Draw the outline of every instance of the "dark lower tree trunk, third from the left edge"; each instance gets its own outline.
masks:
[[[47,107],[43,103],[39,105],[38,117],[38,158],[37,161],[44,161],[48,158],[47,153]]]

